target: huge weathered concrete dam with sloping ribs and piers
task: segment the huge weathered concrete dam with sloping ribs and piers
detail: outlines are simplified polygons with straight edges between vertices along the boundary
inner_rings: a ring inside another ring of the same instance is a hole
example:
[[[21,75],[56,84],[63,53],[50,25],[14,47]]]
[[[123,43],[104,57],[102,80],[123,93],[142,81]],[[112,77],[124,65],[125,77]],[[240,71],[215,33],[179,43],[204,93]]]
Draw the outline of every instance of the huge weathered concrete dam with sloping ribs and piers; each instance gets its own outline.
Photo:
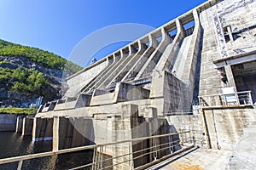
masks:
[[[144,169],[186,144],[233,150],[256,122],[255,11],[254,0],[201,4],[68,77],[64,97],[17,132],[55,152],[96,144],[110,169]]]

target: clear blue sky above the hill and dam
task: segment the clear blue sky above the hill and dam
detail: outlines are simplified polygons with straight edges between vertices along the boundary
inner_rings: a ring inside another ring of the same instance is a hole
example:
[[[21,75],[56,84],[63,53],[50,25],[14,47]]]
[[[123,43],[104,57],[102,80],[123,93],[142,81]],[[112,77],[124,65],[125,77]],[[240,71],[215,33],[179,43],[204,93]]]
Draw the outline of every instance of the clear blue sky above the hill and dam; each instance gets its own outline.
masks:
[[[84,37],[104,26],[138,23],[159,27],[204,2],[207,1],[0,0],[0,38],[68,59]]]

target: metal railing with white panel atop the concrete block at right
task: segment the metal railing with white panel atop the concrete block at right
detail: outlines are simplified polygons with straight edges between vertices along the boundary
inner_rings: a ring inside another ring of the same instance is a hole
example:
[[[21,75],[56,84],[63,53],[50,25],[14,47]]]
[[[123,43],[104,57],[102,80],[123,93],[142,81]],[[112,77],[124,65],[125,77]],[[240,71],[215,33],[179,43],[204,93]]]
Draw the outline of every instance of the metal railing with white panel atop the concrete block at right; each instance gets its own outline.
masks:
[[[251,91],[198,96],[201,106],[253,105]]]

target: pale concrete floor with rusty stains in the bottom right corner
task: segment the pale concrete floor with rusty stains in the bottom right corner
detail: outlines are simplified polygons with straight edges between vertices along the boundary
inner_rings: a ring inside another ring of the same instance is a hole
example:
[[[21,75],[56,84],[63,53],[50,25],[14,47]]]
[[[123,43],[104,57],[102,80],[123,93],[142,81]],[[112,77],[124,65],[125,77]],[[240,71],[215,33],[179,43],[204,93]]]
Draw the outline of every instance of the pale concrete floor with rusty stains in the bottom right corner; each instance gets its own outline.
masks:
[[[255,131],[256,122],[253,122],[244,129],[239,143],[233,150],[207,150],[199,148],[163,161],[154,166],[154,169],[254,169],[256,166],[256,150],[254,150],[256,144],[253,142],[256,140]]]

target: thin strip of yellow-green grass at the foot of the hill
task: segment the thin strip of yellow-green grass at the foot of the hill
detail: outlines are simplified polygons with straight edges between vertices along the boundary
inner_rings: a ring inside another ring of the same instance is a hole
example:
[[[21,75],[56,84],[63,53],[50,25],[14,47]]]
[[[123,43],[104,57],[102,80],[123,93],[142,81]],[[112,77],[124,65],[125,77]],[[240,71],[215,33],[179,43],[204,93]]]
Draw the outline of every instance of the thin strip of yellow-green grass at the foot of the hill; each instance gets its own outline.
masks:
[[[15,108],[15,107],[6,107],[0,108],[0,114],[34,114],[38,111],[38,109],[32,108]]]

